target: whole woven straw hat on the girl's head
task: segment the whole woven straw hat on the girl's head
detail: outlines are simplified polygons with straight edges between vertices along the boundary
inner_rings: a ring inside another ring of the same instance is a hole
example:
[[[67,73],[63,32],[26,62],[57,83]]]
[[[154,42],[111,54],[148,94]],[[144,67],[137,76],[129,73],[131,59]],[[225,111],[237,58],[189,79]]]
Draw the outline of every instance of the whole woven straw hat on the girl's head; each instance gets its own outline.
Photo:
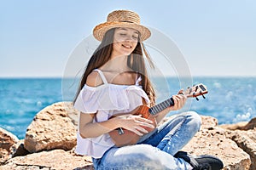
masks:
[[[126,27],[133,28],[141,33],[141,41],[150,37],[151,33],[145,26],[140,25],[140,17],[130,10],[115,10],[108,14],[107,22],[104,22],[93,29],[93,36],[102,41],[105,33],[111,28]]]

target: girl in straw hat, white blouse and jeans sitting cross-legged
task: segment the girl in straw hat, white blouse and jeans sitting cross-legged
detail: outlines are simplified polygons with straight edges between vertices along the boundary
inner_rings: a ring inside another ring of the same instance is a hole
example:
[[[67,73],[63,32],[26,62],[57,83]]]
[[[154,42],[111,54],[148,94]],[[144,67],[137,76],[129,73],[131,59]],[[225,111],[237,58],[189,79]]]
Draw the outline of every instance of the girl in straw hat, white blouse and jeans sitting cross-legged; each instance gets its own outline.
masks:
[[[200,129],[201,117],[195,112],[157,126],[169,111],[183,107],[183,90],[172,96],[174,105],[154,119],[127,114],[135,113],[140,105],[153,106],[155,101],[143,60],[145,54],[153,65],[143,46],[150,31],[140,25],[138,14],[113,11],[107,22],[94,28],[93,35],[101,44],[86,66],[74,101],[80,111],[76,153],[92,156],[95,169],[221,169],[223,163],[217,157],[178,151]],[[140,138],[136,144],[118,147],[109,135],[115,129],[120,135],[125,129]]]

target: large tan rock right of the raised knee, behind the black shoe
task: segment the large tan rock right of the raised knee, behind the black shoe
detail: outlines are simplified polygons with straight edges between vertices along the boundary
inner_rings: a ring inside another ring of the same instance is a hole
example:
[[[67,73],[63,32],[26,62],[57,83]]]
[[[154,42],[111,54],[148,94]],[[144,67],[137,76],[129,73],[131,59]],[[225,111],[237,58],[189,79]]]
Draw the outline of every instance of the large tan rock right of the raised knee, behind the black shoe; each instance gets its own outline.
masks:
[[[250,156],[237,144],[225,137],[225,130],[217,127],[217,120],[211,116],[201,116],[202,126],[200,132],[185,145],[183,150],[190,154],[217,156],[224,161],[224,169],[246,170],[249,169]]]

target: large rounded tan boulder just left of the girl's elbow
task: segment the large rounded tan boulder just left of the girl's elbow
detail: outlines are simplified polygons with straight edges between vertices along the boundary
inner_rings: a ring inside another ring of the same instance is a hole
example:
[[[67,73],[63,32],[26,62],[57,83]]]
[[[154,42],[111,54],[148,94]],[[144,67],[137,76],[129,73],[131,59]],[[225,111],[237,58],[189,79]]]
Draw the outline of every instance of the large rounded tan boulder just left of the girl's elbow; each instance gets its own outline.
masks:
[[[76,126],[69,113],[78,115],[70,102],[49,105],[40,111],[27,127],[24,147],[26,150],[72,150],[76,145]]]

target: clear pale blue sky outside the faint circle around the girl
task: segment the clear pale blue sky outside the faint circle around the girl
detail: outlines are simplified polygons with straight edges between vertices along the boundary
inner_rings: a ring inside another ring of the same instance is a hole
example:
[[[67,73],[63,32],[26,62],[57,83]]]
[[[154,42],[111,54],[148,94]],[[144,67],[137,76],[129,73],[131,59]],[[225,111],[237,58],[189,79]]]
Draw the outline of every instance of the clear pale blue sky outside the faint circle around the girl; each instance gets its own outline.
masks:
[[[62,77],[69,55],[114,9],[176,42],[192,76],[256,76],[256,1],[3,1],[0,77]]]

